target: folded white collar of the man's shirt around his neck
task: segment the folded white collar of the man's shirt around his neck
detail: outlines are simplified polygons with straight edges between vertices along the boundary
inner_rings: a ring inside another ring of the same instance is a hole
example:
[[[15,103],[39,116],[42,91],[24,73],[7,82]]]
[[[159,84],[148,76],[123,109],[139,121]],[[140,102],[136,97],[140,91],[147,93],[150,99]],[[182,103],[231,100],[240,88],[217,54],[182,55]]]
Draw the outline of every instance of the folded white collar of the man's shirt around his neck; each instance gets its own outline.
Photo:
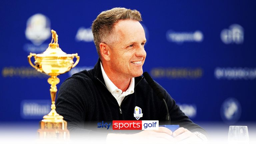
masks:
[[[118,87],[116,87],[115,84],[108,78],[107,74],[104,71],[104,68],[103,68],[101,62],[100,62],[100,67],[101,67],[101,72],[102,72],[102,76],[103,76],[103,79],[105,81],[106,87],[109,90],[109,92],[113,95],[113,93],[116,90],[120,90],[120,89]],[[128,89],[126,90],[130,94],[134,93],[134,83],[135,83],[134,78],[131,78],[130,85],[129,85]],[[122,90],[120,90],[120,91],[122,91]]]

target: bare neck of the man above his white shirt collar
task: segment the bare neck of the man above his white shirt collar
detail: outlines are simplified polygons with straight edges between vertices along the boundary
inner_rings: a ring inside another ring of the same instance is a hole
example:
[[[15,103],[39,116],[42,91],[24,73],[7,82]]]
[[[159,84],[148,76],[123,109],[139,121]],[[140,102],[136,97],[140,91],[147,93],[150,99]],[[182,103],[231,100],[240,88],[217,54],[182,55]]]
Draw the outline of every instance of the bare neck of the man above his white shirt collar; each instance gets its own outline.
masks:
[[[121,89],[122,91],[126,91],[128,89],[131,82],[130,77],[123,77],[122,75],[116,74],[103,63],[102,66],[108,78],[117,88]]]

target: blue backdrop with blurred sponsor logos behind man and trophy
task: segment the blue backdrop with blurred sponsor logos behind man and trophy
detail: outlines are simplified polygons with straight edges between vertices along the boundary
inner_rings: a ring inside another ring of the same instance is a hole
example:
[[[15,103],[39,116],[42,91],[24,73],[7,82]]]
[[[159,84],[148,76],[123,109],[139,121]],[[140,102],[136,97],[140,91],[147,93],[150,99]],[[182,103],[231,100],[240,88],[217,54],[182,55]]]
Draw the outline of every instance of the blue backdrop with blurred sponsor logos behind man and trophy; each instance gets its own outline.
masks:
[[[104,10],[141,12],[147,43],[144,71],[194,121],[255,121],[256,1],[0,1],[0,122],[39,121],[50,110],[47,75],[27,61],[59,35],[79,64],[59,76],[94,67],[92,21]]]

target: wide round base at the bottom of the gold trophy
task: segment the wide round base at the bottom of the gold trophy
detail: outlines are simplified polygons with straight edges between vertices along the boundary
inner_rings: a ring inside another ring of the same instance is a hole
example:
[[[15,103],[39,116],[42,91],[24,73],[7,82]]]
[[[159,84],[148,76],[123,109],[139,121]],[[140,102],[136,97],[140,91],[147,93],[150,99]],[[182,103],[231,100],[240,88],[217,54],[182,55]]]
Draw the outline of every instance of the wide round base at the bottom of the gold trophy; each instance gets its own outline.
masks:
[[[67,122],[64,120],[58,122],[41,120],[37,132],[41,140],[69,140],[70,138]]]

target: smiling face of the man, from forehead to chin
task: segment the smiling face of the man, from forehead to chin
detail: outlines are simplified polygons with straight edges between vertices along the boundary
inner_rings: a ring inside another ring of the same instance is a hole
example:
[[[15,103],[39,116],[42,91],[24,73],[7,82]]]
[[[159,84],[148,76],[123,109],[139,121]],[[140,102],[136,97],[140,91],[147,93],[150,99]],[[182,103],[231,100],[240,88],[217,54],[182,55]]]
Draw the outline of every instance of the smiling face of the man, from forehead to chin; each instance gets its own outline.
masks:
[[[146,58],[144,44],[146,37],[138,21],[120,20],[114,26],[115,42],[110,49],[111,71],[121,77],[142,75]]]

